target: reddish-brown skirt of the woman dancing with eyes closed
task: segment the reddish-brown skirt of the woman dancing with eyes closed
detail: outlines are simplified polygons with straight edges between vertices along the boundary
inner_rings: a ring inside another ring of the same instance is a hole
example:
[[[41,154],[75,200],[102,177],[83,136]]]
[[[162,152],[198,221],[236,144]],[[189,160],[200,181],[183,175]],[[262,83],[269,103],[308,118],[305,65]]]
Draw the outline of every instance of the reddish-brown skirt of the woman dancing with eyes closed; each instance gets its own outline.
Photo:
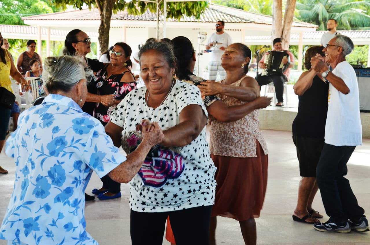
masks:
[[[224,157],[211,155],[217,171],[215,205],[217,215],[245,221],[258,218],[265,199],[268,155],[257,141],[257,157]]]

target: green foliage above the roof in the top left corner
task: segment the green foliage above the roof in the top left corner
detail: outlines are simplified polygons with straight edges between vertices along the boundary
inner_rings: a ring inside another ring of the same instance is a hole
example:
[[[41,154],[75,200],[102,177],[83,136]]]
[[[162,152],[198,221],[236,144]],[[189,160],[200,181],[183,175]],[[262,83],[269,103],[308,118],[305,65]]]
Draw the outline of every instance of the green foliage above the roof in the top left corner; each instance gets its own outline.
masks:
[[[53,9],[42,0],[1,0],[0,23],[8,25],[24,25],[21,17],[53,13]]]

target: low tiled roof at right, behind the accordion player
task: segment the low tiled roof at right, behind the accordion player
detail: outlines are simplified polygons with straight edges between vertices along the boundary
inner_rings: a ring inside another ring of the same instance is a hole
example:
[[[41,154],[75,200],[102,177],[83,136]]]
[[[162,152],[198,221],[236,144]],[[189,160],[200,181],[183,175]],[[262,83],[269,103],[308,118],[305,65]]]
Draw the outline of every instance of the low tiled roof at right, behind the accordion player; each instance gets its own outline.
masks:
[[[321,39],[321,36],[326,31],[309,31],[303,33],[303,39]],[[344,36],[348,36],[351,39],[356,38],[370,38],[370,30],[353,30],[353,31],[338,31]],[[299,34],[293,33],[290,35],[290,40],[298,40]],[[245,40],[271,40],[271,36],[246,36]]]

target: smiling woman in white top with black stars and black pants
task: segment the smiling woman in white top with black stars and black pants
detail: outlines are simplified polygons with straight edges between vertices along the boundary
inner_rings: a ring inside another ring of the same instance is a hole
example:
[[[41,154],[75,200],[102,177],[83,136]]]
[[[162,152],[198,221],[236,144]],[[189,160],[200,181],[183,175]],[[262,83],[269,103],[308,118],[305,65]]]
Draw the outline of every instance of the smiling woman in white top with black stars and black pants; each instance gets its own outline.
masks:
[[[178,245],[209,242],[216,182],[206,141],[207,111],[199,89],[175,79],[171,46],[151,41],[141,47],[141,77],[146,87],[126,95],[105,126],[116,146],[122,136],[124,149],[135,148],[135,125],[144,115],[164,130],[161,145],[148,154],[130,182],[133,245],[161,245],[168,216]],[[145,235],[143,222],[148,224]]]

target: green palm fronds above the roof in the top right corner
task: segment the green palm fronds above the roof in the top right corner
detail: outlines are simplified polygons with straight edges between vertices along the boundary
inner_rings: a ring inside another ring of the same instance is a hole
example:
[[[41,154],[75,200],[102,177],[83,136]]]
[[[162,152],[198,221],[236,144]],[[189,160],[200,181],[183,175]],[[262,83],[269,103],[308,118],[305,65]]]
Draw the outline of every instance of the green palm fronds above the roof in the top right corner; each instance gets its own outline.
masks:
[[[338,30],[364,29],[370,26],[370,2],[367,0],[297,0],[295,16],[301,21],[326,30],[326,22],[335,19]]]

